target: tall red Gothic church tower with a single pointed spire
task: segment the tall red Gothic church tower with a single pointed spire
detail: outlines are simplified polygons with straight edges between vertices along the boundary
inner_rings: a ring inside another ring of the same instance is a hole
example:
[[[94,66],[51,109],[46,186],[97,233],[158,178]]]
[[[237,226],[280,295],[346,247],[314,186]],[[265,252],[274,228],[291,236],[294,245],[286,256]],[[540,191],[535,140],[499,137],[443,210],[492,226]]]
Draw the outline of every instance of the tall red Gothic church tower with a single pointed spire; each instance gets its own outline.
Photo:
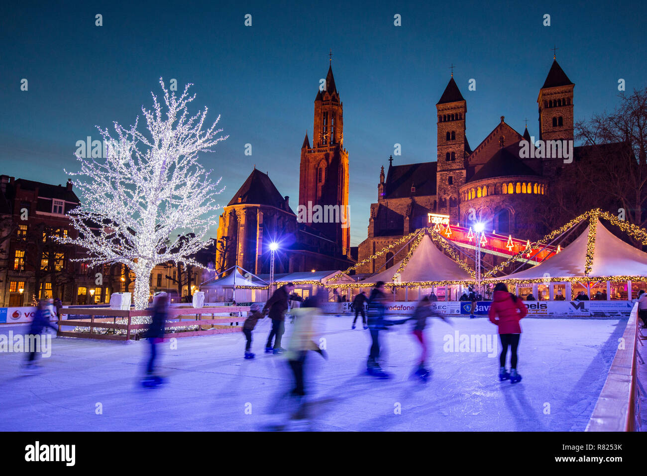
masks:
[[[314,99],[313,144],[311,147],[306,133],[301,148],[299,205],[306,210],[313,210],[315,205],[322,207],[322,220],[316,219],[315,209],[312,221],[307,224],[333,240],[342,254],[347,255],[351,232],[343,113],[343,103],[334,84],[331,58],[325,84]]]

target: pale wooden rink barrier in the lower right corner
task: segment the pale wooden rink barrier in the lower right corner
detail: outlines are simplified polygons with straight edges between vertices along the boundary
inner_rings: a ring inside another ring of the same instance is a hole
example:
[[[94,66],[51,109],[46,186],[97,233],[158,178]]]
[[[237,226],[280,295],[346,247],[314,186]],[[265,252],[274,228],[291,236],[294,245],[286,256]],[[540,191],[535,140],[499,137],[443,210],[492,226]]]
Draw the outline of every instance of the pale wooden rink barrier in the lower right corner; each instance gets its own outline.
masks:
[[[613,357],[586,431],[638,431],[640,398],[637,383],[638,303],[633,306],[622,343]]]

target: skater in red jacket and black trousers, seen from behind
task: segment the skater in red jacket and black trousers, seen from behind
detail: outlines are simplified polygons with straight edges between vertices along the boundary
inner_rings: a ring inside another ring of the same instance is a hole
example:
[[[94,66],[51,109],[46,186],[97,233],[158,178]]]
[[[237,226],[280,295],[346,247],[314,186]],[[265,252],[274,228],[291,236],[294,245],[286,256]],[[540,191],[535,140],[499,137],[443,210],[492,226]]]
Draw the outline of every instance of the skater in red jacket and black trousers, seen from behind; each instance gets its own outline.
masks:
[[[499,368],[499,380],[508,380],[510,383],[517,383],[521,376],[517,372],[517,346],[521,337],[521,326],[519,321],[527,315],[528,310],[525,304],[514,294],[508,292],[505,283],[499,282],[494,286],[494,300],[490,306],[488,317],[492,324],[499,326],[499,337],[501,338],[501,368]],[[510,346],[510,373],[505,370],[505,357]]]

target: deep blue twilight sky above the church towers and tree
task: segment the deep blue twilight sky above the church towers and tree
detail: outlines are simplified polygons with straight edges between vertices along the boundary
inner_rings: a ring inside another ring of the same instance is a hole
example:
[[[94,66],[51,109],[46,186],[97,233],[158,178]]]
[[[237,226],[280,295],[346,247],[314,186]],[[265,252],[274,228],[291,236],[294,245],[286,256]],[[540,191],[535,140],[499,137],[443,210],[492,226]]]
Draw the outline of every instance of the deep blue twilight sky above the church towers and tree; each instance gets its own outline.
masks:
[[[100,139],[94,126],[126,126],[142,105],[150,108],[162,76],[167,84],[177,79],[178,89],[194,84],[192,111],[207,106],[212,121],[221,115],[229,139],[201,155],[223,177],[221,204],[256,164],[296,210],[300,148],[306,130],[313,137],[314,97],[332,49],[353,245],[366,238],[380,165],[388,165],[393,144],[402,145],[394,164],[435,160],[435,103],[452,63],[472,148],[501,115],[520,133],[528,119],[536,135],[536,99],[554,45],[575,83],[576,120],[613,109],[619,78],[632,91],[647,76],[641,2],[7,4],[0,7],[0,174],[48,183],[65,183],[63,168],[78,169],[76,141]],[[20,90],[22,78],[28,91]],[[468,91],[470,78],[476,91]]]

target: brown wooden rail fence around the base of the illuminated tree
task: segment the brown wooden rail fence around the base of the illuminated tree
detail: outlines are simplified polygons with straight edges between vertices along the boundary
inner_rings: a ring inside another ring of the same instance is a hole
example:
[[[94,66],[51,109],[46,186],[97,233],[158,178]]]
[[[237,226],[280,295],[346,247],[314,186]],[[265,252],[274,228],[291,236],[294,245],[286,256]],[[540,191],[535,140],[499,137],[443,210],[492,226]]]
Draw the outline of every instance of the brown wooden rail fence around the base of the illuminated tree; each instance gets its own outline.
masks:
[[[195,335],[225,334],[240,330],[239,323],[245,321],[243,313],[248,313],[249,306],[218,306],[208,308],[178,308],[168,310],[168,320],[164,324],[166,332],[164,337],[192,337]],[[225,313],[236,313],[234,316],[216,317]],[[149,317],[153,315],[150,310],[114,310],[110,308],[65,308],[67,319],[58,321],[58,332],[61,337],[77,337],[81,339],[103,339],[111,341],[128,341],[139,339],[141,330],[146,330],[148,324],[135,323],[134,318]],[[204,315],[211,315],[211,319],[203,319]],[[76,317],[72,317],[76,316]],[[188,319],[186,319],[188,318]],[[126,319],[126,323],[117,323],[116,319]],[[175,321],[177,319],[177,321]],[[236,323],[236,326],[233,324]],[[230,325],[223,325],[230,324]],[[88,332],[61,330],[63,327],[89,328]],[[168,332],[177,327],[199,326],[198,330]],[[204,328],[208,326],[208,328]],[[100,330],[105,329],[104,333]],[[99,332],[95,332],[99,330]],[[112,333],[110,333],[112,330]],[[125,330],[126,334],[116,334],[117,330]]]

